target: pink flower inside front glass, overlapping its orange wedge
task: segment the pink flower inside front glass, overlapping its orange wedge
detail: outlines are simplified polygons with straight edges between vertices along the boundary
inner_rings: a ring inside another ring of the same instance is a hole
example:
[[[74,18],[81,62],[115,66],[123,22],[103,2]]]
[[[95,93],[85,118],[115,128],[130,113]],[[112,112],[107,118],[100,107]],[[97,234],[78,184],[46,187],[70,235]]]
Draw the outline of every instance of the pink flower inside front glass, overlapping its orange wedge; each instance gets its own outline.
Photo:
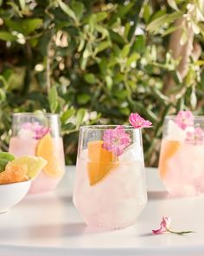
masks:
[[[124,153],[124,148],[131,144],[131,137],[125,133],[124,127],[119,125],[117,128],[105,130],[103,141],[103,148],[112,151],[113,154],[121,155]]]

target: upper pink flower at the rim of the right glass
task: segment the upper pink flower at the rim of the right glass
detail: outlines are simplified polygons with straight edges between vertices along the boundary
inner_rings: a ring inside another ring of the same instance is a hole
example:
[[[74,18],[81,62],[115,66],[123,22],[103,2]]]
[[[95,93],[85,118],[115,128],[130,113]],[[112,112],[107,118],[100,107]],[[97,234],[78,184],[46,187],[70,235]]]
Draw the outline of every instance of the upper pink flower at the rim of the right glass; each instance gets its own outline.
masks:
[[[175,123],[185,130],[187,127],[194,126],[194,115],[191,111],[179,111],[175,117]]]

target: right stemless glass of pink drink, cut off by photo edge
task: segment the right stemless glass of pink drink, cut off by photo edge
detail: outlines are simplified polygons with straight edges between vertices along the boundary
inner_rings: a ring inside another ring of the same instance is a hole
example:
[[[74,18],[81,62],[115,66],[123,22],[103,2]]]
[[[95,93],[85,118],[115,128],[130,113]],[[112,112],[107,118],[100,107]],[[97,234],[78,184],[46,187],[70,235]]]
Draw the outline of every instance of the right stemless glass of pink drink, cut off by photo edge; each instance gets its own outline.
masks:
[[[204,192],[204,116],[190,117],[186,124],[169,115],[163,124],[159,174],[169,193],[176,196]]]

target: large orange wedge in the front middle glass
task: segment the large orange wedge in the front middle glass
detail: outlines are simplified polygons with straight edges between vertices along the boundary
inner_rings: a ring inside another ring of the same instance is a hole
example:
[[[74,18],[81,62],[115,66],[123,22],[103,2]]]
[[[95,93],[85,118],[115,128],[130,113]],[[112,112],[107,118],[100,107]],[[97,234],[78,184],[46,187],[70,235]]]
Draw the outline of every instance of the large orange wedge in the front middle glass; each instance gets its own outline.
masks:
[[[95,185],[107,175],[112,167],[116,166],[114,161],[117,157],[112,152],[107,151],[103,146],[103,141],[88,142],[88,175],[90,185]]]

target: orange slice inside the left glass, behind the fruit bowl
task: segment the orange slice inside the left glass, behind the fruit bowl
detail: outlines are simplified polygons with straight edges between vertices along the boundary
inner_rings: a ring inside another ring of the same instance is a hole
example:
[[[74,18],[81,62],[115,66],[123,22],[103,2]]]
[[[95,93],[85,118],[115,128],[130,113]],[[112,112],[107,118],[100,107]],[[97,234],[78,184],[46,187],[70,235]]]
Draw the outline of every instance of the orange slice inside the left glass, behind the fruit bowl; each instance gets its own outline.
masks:
[[[49,177],[55,178],[64,174],[64,171],[61,169],[60,163],[56,157],[53,139],[49,133],[44,135],[38,142],[35,154],[48,161],[42,171]]]

